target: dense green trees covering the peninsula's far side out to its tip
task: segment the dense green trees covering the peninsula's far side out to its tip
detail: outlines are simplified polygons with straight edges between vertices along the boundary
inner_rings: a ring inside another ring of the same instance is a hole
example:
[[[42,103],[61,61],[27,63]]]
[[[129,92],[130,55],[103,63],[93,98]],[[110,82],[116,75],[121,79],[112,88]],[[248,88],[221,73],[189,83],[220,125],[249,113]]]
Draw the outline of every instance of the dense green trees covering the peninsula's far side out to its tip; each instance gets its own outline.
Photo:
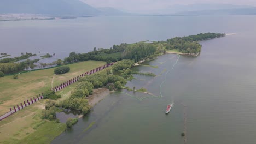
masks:
[[[65,63],[75,61],[112,61],[117,62],[121,59],[131,59],[138,62],[142,59],[154,58],[159,53],[165,53],[166,50],[178,49],[182,53],[198,53],[201,51],[201,44],[197,41],[223,37],[225,34],[220,33],[200,33],[190,35],[188,37],[175,37],[166,41],[157,41],[153,43],[139,42],[135,44],[120,44],[113,45],[109,49],[97,49],[88,53],[71,52],[69,57],[64,59]]]

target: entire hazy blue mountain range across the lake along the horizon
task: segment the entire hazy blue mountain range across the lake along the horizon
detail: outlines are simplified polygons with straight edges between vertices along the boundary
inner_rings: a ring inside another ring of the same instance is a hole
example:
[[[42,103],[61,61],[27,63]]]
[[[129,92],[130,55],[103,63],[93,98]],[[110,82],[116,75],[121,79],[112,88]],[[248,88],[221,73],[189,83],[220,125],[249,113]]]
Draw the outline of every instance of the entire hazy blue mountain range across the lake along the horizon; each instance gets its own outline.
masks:
[[[256,15],[256,7],[229,4],[173,5],[150,14],[125,13],[114,8],[94,8],[80,0],[0,0],[0,14],[106,16],[106,15]]]

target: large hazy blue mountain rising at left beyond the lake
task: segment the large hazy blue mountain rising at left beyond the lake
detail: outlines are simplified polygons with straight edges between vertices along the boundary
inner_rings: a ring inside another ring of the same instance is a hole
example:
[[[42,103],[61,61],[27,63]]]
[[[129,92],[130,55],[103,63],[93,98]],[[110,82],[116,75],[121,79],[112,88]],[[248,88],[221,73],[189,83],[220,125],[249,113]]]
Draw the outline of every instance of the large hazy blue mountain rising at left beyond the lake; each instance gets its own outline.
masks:
[[[0,0],[0,13],[99,15],[101,11],[79,0]]]

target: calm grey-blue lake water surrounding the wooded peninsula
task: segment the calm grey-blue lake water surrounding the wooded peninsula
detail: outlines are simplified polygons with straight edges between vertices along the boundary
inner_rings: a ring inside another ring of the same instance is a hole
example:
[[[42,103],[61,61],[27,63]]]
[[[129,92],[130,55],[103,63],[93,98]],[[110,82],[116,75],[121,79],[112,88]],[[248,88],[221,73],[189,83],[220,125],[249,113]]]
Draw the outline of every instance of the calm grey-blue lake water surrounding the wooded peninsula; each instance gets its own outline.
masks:
[[[161,98],[126,90],[110,93],[52,143],[184,143],[184,118],[187,143],[256,143],[255,23],[256,16],[236,15],[9,21],[0,22],[0,45],[5,53],[41,51],[62,58],[95,46],[236,33],[201,41],[198,57],[166,54],[144,63],[157,68],[133,68],[158,76],[135,75],[127,86],[144,87],[158,97],[161,90]]]

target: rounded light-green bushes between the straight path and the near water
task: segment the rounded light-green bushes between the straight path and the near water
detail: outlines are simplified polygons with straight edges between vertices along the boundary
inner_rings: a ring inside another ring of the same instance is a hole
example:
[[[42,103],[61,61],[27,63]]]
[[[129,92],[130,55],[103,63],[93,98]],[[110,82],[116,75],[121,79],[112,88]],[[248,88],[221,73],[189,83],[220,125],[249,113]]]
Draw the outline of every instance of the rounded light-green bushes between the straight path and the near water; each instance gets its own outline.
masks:
[[[117,88],[119,88],[125,85],[127,81],[123,77],[110,74],[109,70],[85,76],[79,79],[78,85],[72,92],[71,97],[61,101],[58,106],[65,109],[79,110],[86,114],[90,111],[91,106],[85,98],[93,94],[93,89],[108,85],[114,86],[116,82],[118,82],[117,84],[119,85],[117,85]]]

